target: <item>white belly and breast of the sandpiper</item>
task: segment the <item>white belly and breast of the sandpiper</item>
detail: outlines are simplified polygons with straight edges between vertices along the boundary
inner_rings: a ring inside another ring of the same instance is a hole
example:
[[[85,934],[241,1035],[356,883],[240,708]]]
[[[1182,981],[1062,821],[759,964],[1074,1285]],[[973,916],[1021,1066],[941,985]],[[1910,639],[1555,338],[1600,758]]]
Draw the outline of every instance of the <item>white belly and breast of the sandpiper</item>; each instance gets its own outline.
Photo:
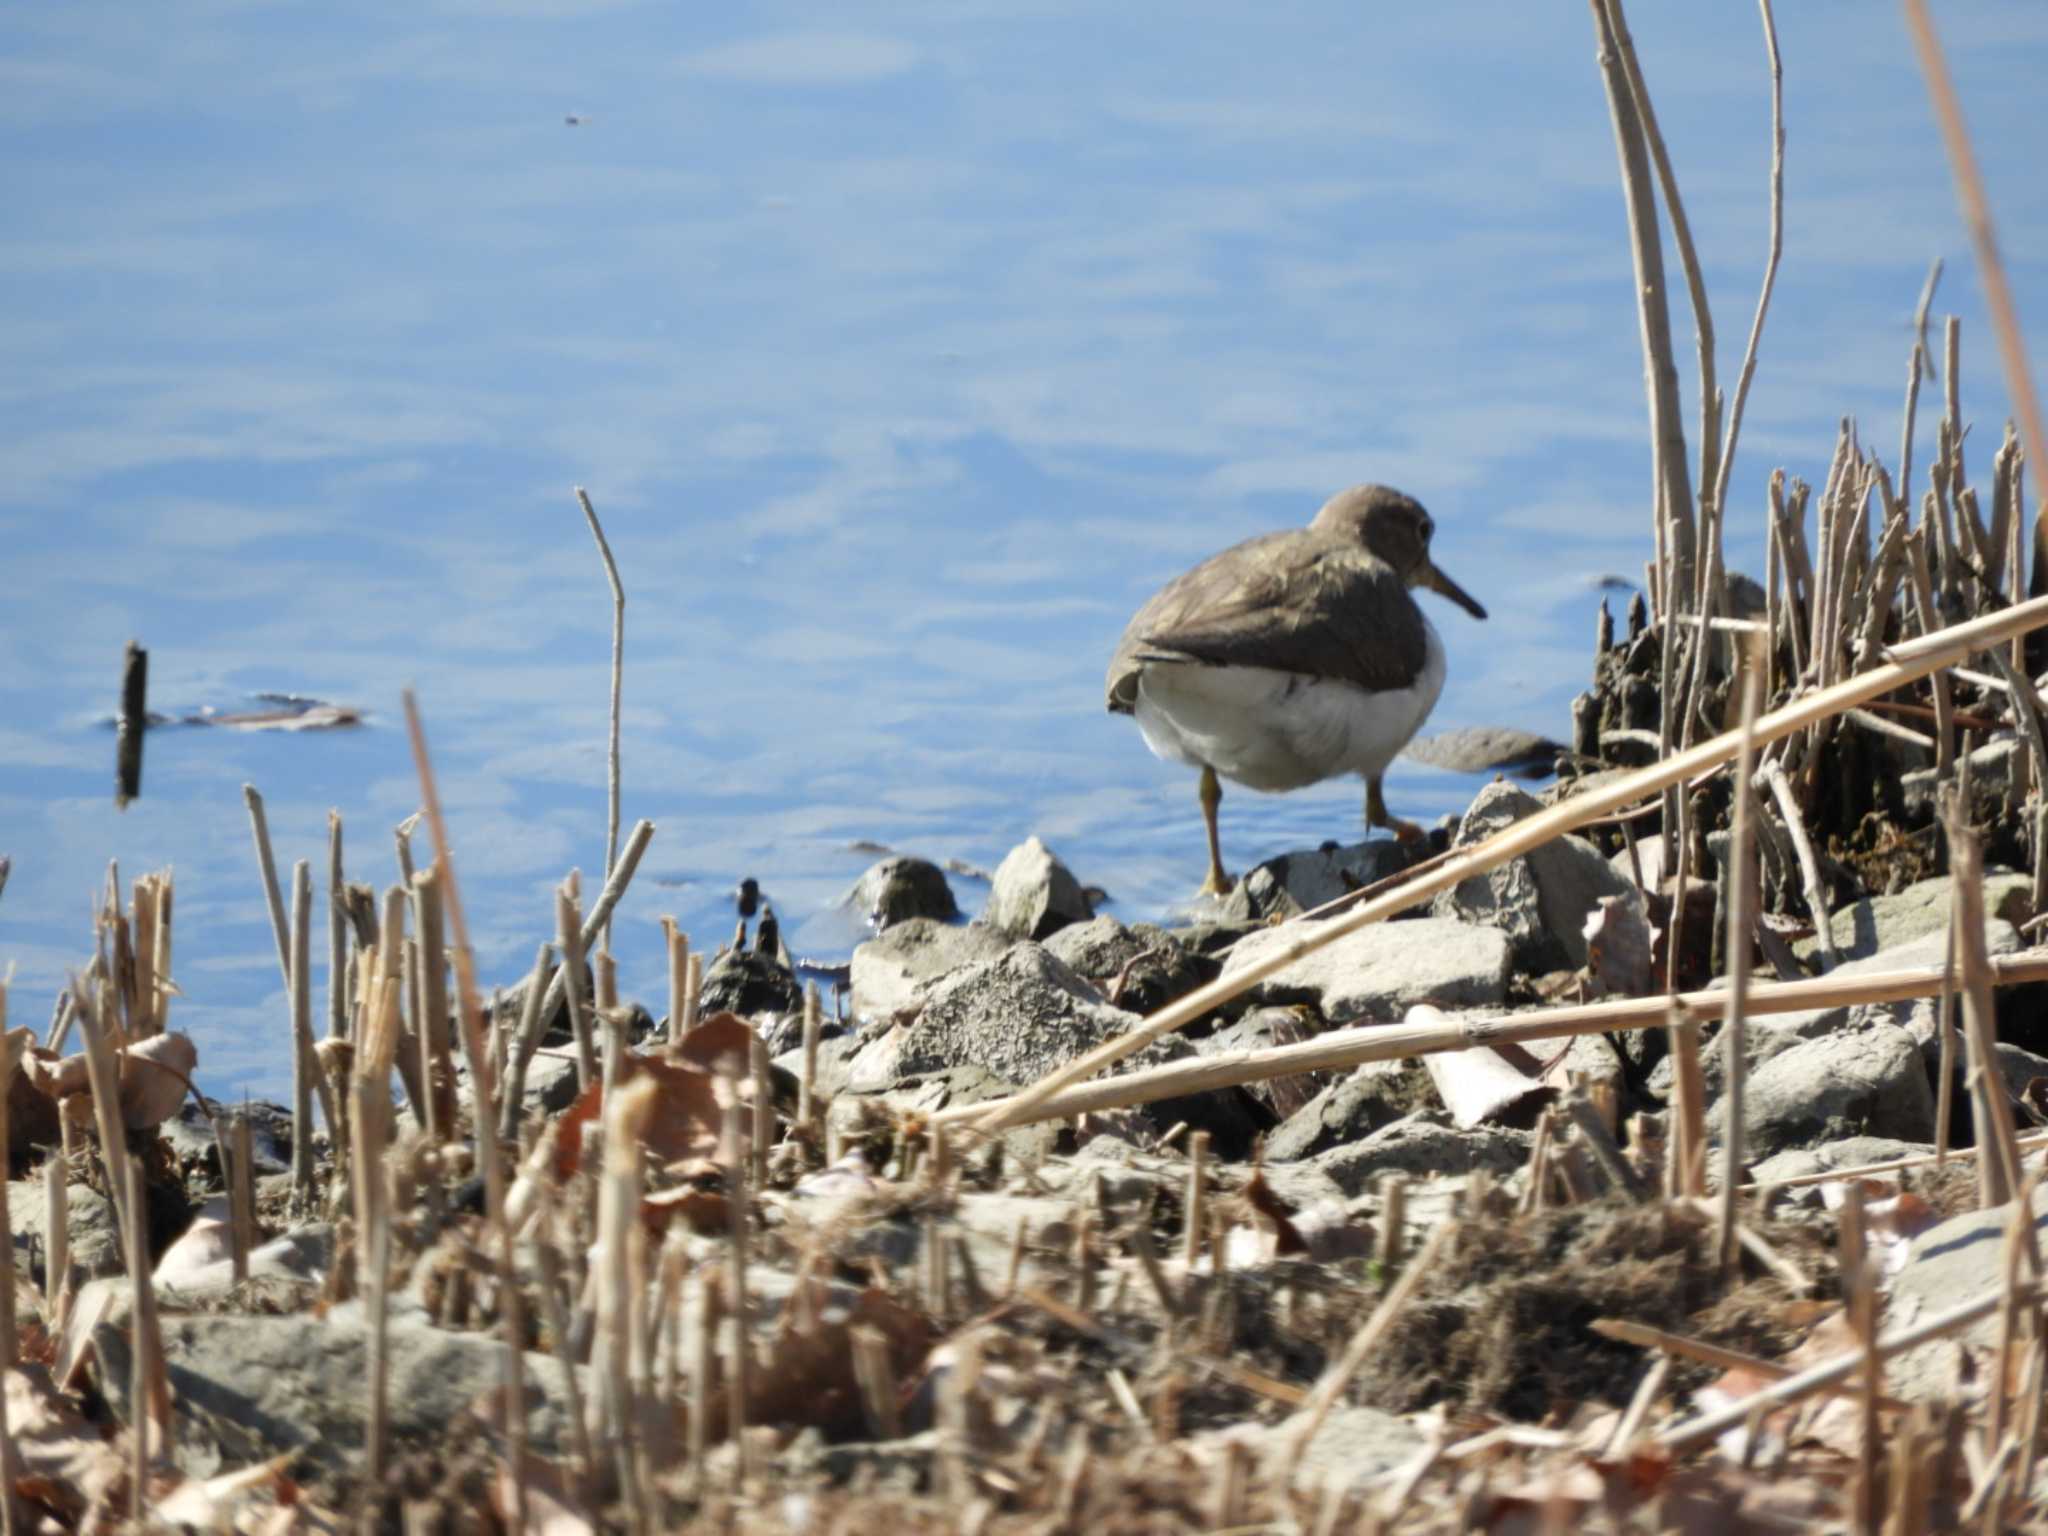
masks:
[[[1335,774],[1380,774],[1421,729],[1444,690],[1444,645],[1427,629],[1423,670],[1407,688],[1270,668],[1147,662],[1135,715],[1159,758],[1210,766],[1249,788],[1286,791]]]

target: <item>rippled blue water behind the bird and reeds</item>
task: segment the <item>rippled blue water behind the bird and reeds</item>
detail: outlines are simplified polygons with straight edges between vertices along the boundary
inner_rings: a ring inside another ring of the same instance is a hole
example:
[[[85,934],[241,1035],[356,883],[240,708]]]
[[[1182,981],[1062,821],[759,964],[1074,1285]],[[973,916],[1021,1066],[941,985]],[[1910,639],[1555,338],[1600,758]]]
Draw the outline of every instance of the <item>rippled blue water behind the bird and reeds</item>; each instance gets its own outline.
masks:
[[[1782,10],[1786,256],[1731,510],[1751,569],[1772,467],[1821,477],[1843,414],[1894,459],[1935,256],[1978,467],[2005,416],[1898,16]],[[991,868],[1036,831],[1124,918],[1186,899],[1194,786],[1102,713],[1102,666],[1167,575],[1358,479],[1419,496],[1491,610],[1425,598],[1432,729],[1565,733],[1591,582],[1649,555],[1614,143],[1583,8],[1440,14],[0,16],[12,1020],[41,1026],[88,952],[109,858],[174,866],[201,1083],[279,1094],[240,786],[287,870],[324,870],[338,807],[350,874],[391,881],[406,686],[483,973],[516,975],[555,881],[594,889],[604,858],[610,602],[575,483],[629,594],[625,819],[659,831],[616,944],[657,1010],[657,918],[715,942],[741,874],[799,950],[844,954],[854,840]],[[2048,356],[2048,12],[1942,25]],[[1733,385],[1761,35],[1745,6],[1638,4],[1634,29]],[[100,721],[131,637],[160,709],[287,690],[371,723],[154,733],[117,813]],[[1397,766],[1389,799],[1470,791]],[[1356,784],[1223,809],[1233,866],[1358,827]]]

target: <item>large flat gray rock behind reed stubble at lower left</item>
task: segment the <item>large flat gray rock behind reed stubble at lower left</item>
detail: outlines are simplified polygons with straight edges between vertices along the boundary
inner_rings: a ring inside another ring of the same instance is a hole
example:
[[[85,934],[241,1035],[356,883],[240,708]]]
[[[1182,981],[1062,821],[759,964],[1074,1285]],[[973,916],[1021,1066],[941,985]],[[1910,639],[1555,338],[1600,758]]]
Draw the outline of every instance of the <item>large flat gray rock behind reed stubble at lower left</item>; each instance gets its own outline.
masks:
[[[100,1391],[133,1423],[129,1337],[102,1325],[92,1341]],[[387,1360],[395,1446],[438,1448],[449,1427],[498,1386],[502,1343],[489,1333],[426,1327],[401,1313],[391,1321]],[[164,1317],[164,1364],[178,1401],[174,1456],[186,1473],[242,1466],[287,1450],[336,1477],[352,1475],[360,1462],[369,1380],[369,1333],[360,1321]],[[561,1362],[528,1354],[524,1374],[530,1444],[541,1454],[563,1454],[569,1419]],[[586,1399],[588,1393],[586,1384]]]

